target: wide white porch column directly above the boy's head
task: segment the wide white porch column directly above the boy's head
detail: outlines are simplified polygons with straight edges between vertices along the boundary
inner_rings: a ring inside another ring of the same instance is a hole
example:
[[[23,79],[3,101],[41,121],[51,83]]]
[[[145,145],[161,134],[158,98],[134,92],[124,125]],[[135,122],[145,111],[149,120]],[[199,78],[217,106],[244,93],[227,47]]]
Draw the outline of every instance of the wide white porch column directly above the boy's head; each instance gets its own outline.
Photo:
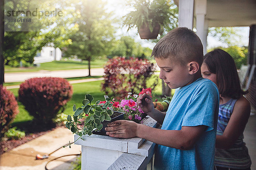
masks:
[[[194,0],[179,0],[179,27],[193,29]]]

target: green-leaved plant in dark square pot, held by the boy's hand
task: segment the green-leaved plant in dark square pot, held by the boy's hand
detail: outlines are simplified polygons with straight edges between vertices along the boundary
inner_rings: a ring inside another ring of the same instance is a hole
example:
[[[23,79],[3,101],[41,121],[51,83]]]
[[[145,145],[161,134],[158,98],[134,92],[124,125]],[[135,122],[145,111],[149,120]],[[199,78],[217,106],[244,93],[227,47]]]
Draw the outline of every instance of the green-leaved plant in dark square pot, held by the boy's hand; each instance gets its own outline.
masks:
[[[73,118],[70,115],[67,116],[66,127],[73,133],[79,135],[80,138],[82,135],[86,134],[89,136],[92,134],[105,135],[105,127],[108,123],[123,119],[124,113],[111,109],[113,103],[111,103],[110,98],[106,98],[105,103],[101,103],[101,101],[98,100],[96,104],[92,104],[92,101],[93,96],[86,94],[81,107],[76,108],[76,105],[73,105]],[[70,145],[70,143],[63,147],[68,145]]]

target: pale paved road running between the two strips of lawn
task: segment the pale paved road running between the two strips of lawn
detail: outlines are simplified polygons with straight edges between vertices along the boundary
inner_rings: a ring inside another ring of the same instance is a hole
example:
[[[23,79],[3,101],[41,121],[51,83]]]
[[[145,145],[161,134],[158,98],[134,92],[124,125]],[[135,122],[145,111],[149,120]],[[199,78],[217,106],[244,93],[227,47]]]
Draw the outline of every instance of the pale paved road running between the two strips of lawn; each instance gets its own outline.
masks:
[[[75,69],[75,70],[58,70],[58,71],[33,71],[33,72],[17,72],[5,73],[5,82],[24,82],[26,79],[34,77],[85,77],[88,76],[88,69]],[[104,74],[103,68],[91,68],[91,76],[102,76]]]

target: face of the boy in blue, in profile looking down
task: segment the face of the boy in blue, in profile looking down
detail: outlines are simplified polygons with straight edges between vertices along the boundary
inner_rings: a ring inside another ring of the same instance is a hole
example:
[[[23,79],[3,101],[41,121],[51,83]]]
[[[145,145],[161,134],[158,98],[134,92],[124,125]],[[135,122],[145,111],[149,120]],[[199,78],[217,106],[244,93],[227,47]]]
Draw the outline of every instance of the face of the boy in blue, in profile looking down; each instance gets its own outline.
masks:
[[[160,67],[159,78],[169,86],[169,88],[179,88],[191,83],[189,76],[189,67],[180,65],[178,62],[173,62],[172,59],[156,58],[157,65]]]

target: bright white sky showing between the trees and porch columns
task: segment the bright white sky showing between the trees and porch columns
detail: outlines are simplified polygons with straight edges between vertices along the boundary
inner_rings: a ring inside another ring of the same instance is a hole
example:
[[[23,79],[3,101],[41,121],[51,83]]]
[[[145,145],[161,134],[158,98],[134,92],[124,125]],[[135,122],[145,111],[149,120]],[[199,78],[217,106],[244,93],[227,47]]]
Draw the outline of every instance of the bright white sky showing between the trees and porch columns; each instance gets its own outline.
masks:
[[[127,14],[129,11],[132,9],[129,8],[128,6],[125,6],[125,1],[127,0],[108,0],[108,10],[113,11],[115,13],[116,17],[122,17],[125,14]],[[238,27],[238,35],[241,35],[241,39],[237,40],[237,45],[239,46],[248,46],[249,44],[249,27]],[[155,43],[152,43],[148,40],[142,40],[140,39],[140,35],[137,34],[137,28],[133,28],[127,32],[127,27],[123,27],[119,29],[116,33],[116,36],[130,36],[133,37],[136,42],[140,42],[140,44],[143,47],[148,47],[153,49]],[[235,37],[237,38],[237,37]],[[223,46],[225,47],[225,44],[222,42],[219,42],[216,38],[214,37],[207,37],[207,48],[214,48],[218,46]]]

